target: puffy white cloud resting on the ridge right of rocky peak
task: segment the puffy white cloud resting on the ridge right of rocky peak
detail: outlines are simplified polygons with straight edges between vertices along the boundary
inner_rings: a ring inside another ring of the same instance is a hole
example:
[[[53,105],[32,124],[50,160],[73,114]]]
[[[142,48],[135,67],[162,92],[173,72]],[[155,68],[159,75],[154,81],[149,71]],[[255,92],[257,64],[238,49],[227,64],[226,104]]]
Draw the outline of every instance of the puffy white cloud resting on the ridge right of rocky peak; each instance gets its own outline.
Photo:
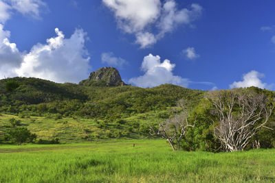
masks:
[[[133,77],[129,80],[131,84],[143,88],[158,86],[160,84],[177,84],[188,87],[189,80],[177,75],[173,75],[175,64],[171,64],[170,60],[160,61],[159,56],[149,54],[144,57],[142,62],[142,71],[144,75],[140,77]]]

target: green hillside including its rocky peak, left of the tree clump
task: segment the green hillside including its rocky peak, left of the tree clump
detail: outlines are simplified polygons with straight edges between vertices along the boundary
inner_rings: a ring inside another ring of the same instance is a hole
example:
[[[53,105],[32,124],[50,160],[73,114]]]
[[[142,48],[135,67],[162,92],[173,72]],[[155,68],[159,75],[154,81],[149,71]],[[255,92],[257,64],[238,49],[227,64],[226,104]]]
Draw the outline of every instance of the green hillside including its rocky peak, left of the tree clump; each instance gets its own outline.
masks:
[[[0,91],[5,90],[8,81],[19,84],[10,93],[0,93],[0,141],[12,118],[45,141],[147,138],[148,121],[170,117],[179,110],[175,106],[182,98],[195,106],[205,93],[173,84],[154,88],[126,85],[113,68],[99,69],[91,75],[80,84],[26,77],[0,80]],[[101,75],[102,80],[94,75]]]

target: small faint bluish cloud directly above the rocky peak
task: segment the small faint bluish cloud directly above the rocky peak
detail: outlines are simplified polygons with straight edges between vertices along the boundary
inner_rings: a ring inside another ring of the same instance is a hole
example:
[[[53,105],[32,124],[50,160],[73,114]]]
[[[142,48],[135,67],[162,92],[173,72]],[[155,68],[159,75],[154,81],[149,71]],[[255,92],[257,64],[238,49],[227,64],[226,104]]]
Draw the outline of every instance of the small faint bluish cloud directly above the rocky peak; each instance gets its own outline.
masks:
[[[119,68],[126,64],[126,60],[120,57],[115,57],[115,55],[112,52],[102,53],[101,62],[106,63],[109,66],[115,66]]]

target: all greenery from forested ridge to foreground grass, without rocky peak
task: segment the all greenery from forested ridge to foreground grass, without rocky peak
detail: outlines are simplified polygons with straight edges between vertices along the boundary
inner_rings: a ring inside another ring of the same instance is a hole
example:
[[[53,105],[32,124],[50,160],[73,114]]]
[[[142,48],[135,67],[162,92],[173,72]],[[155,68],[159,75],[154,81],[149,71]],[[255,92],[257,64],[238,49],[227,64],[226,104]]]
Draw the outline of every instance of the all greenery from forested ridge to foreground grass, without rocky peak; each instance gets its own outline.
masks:
[[[275,181],[270,90],[14,77],[0,91],[0,182]]]

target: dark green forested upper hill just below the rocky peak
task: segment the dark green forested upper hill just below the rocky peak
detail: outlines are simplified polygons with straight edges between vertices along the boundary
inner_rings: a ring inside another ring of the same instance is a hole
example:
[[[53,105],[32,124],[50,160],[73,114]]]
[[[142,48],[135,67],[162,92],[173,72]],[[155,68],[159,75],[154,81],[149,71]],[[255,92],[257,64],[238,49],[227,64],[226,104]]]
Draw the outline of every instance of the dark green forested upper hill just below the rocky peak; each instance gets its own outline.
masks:
[[[120,118],[122,115],[166,110],[182,98],[195,105],[205,93],[172,84],[154,88],[85,86],[26,77],[0,80],[0,91],[5,90],[8,80],[17,82],[19,87],[10,93],[0,94],[0,112],[26,112],[31,115],[59,113],[63,116]]]

